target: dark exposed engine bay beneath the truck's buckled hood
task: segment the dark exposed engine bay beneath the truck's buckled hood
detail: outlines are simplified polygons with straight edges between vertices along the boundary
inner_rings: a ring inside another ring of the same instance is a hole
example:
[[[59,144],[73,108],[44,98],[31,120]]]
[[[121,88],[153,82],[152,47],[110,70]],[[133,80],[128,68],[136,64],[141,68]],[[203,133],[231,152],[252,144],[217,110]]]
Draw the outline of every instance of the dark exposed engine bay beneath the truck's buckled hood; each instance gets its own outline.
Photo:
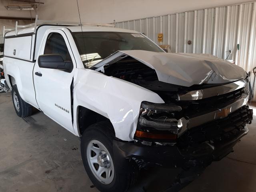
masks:
[[[201,84],[190,87],[170,84],[158,80],[156,71],[142,62],[128,56],[115,64],[104,66],[104,74],[113,76],[138,86],[142,86],[148,90],[157,93],[166,103],[176,102],[178,100],[177,93],[185,94],[186,92],[223,84]],[[228,84],[228,83],[224,83]]]

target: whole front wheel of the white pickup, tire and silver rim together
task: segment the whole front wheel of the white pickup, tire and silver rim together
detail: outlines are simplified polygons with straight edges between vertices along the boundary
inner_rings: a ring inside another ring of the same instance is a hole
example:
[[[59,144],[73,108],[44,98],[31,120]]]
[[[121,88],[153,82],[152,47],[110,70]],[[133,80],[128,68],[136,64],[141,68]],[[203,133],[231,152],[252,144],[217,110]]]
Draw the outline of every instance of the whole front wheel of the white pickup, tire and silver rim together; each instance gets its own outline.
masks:
[[[113,154],[114,134],[111,124],[98,122],[88,127],[81,139],[81,154],[84,168],[101,192],[126,192],[138,178],[135,162],[125,169],[115,164]]]

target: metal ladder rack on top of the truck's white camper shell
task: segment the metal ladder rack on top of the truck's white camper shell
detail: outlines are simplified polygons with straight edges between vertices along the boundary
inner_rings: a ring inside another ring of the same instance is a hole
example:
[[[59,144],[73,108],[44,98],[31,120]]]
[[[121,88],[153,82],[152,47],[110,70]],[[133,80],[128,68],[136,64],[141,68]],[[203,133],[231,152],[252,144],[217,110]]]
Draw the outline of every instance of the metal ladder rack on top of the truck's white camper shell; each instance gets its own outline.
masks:
[[[16,21],[15,29],[6,29],[4,26],[3,37],[6,31],[14,31],[15,36],[18,33],[18,29],[25,29],[29,27],[34,27],[34,34],[36,34],[36,28],[40,25],[51,24],[51,25],[67,25],[67,26],[106,26],[106,27],[115,27],[116,20],[114,20],[111,24],[103,24],[103,23],[80,23],[80,22],[66,22],[66,21],[50,21],[50,20],[38,20],[38,15],[36,15],[35,22],[28,25],[18,25],[18,21]]]

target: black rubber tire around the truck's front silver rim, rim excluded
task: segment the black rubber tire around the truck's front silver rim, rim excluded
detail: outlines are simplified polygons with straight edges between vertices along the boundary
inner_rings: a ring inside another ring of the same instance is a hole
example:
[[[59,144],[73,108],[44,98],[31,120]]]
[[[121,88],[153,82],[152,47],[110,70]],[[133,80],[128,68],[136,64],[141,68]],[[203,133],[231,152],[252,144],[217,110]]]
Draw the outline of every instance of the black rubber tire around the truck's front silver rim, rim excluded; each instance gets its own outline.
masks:
[[[81,155],[84,168],[98,190],[101,192],[126,192],[133,186],[138,179],[138,166],[132,161],[127,161],[125,171],[124,167],[115,164],[113,154],[114,133],[112,125],[108,122],[98,122],[89,126],[83,133],[81,139]],[[103,184],[93,174],[87,160],[87,146],[92,140],[98,140],[107,148],[114,164],[114,178],[110,184]]]

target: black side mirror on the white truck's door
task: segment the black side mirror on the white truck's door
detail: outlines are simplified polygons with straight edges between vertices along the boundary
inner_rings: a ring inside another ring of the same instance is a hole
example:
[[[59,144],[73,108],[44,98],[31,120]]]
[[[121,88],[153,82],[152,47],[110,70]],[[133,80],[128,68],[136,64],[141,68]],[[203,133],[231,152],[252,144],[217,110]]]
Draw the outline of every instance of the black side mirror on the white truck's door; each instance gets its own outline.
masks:
[[[38,57],[38,66],[40,68],[60,69],[65,72],[72,72],[73,63],[71,61],[64,61],[62,56],[58,54],[45,54]]]

